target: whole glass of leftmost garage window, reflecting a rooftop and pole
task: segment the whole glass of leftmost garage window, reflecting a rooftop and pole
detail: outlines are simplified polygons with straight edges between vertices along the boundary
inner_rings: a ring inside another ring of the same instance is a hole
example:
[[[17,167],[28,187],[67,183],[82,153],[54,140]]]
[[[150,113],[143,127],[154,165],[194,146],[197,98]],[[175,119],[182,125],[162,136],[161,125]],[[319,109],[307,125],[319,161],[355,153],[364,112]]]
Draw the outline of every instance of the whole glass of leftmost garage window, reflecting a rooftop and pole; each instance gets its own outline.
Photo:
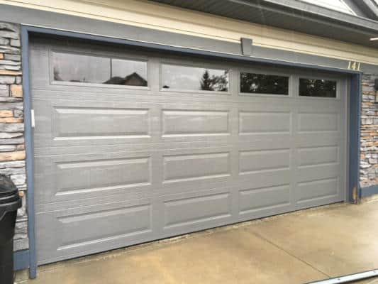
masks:
[[[147,62],[53,53],[55,81],[147,86]]]

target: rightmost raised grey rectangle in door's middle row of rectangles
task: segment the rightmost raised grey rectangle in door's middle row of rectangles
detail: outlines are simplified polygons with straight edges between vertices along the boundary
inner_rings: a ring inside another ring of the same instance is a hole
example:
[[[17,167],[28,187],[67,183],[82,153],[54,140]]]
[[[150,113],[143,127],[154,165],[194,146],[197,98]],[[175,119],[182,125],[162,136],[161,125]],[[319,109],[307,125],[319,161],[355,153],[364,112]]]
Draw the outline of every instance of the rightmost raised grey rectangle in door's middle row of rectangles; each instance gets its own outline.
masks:
[[[299,166],[338,163],[338,147],[299,149]]]

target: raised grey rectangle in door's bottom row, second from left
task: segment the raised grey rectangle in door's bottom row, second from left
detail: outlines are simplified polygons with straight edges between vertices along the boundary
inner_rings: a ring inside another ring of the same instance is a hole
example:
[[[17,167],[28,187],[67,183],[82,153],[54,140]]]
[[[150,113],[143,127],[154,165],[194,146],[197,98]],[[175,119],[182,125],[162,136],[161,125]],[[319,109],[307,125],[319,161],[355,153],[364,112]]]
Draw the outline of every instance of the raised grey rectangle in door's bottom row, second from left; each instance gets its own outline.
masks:
[[[221,193],[165,202],[165,228],[230,216],[230,194]]]

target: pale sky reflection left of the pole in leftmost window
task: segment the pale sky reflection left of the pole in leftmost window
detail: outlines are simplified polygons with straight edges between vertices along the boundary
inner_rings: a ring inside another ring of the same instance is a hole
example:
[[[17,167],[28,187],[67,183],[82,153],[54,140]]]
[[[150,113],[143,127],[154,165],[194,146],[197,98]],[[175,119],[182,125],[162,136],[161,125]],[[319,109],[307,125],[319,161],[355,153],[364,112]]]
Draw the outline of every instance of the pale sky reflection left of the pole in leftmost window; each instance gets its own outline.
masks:
[[[52,66],[55,81],[103,83],[109,80],[109,58],[53,53]]]

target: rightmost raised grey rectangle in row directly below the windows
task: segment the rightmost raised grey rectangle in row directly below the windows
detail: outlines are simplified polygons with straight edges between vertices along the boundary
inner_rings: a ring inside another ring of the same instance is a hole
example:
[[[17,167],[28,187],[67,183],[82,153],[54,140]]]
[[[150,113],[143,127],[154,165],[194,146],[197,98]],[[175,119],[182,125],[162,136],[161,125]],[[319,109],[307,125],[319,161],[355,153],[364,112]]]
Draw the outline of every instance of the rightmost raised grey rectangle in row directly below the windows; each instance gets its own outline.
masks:
[[[337,131],[338,114],[298,114],[299,131]]]

